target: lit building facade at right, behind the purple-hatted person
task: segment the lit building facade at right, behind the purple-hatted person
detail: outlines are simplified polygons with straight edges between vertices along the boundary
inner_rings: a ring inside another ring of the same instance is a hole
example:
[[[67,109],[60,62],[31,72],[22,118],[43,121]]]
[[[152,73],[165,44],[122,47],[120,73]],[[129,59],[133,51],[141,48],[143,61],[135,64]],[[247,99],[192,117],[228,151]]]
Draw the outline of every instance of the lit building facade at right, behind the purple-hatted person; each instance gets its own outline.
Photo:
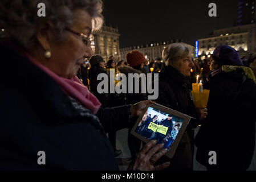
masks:
[[[221,45],[233,47],[241,57],[255,53],[256,24],[214,30],[208,38],[198,39],[198,56],[210,55]]]

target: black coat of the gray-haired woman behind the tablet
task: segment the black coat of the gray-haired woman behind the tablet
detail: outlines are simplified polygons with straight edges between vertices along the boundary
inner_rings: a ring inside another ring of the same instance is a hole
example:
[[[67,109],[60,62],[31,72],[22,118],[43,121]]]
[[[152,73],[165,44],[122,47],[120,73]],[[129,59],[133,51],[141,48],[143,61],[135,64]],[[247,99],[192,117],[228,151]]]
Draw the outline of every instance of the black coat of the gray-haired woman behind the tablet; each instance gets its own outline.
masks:
[[[159,75],[159,98],[156,102],[196,118],[196,107],[191,100],[189,88],[191,86],[185,76],[173,67],[165,67]],[[196,120],[190,120],[176,153],[171,160],[171,169],[193,169],[194,133],[192,128],[196,127],[196,124]]]

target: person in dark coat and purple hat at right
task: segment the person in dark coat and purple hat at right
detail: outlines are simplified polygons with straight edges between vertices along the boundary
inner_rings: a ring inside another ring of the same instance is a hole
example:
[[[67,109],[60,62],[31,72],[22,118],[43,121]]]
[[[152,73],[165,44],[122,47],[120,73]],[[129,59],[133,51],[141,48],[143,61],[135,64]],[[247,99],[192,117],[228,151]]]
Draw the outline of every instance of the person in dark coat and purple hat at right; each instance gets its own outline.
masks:
[[[253,158],[256,122],[256,80],[235,49],[213,52],[207,118],[196,136],[196,159],[208,170],[246,170]],[[217,164],[209,164],[209,152]]]

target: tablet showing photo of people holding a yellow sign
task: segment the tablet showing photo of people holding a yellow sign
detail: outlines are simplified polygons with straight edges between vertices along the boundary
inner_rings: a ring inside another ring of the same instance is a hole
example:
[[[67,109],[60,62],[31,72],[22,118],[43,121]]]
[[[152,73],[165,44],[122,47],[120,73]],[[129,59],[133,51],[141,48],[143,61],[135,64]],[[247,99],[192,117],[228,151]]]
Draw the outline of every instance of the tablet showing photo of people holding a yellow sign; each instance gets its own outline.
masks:
[[[152,104],[143,110],[131,134],[145,143],[150,140],[157,140],[157,144],[164,143],[164,148],[168,148],[165,155],[173,158],[190,118],[160,104]]]

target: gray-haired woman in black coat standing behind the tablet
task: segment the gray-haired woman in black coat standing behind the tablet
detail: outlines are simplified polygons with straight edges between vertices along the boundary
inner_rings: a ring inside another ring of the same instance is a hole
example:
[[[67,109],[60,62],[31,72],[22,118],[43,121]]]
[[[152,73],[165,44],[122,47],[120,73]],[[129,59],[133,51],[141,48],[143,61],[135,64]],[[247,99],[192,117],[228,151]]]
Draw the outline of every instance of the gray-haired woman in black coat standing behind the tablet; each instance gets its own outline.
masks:
[[[188,44],[170,44],[162,51],[162,59],[166,67],[159,75],[159,98],[156,102],[194,118],[205,118],[207,109],[196,109],[190,97],[191,86],[188,83],[188,77],[193,62]],[[172,159],[170,170],[193,169],[194,133],[192,128],[196,127],[196,123],[196,120],[191,119]]]

